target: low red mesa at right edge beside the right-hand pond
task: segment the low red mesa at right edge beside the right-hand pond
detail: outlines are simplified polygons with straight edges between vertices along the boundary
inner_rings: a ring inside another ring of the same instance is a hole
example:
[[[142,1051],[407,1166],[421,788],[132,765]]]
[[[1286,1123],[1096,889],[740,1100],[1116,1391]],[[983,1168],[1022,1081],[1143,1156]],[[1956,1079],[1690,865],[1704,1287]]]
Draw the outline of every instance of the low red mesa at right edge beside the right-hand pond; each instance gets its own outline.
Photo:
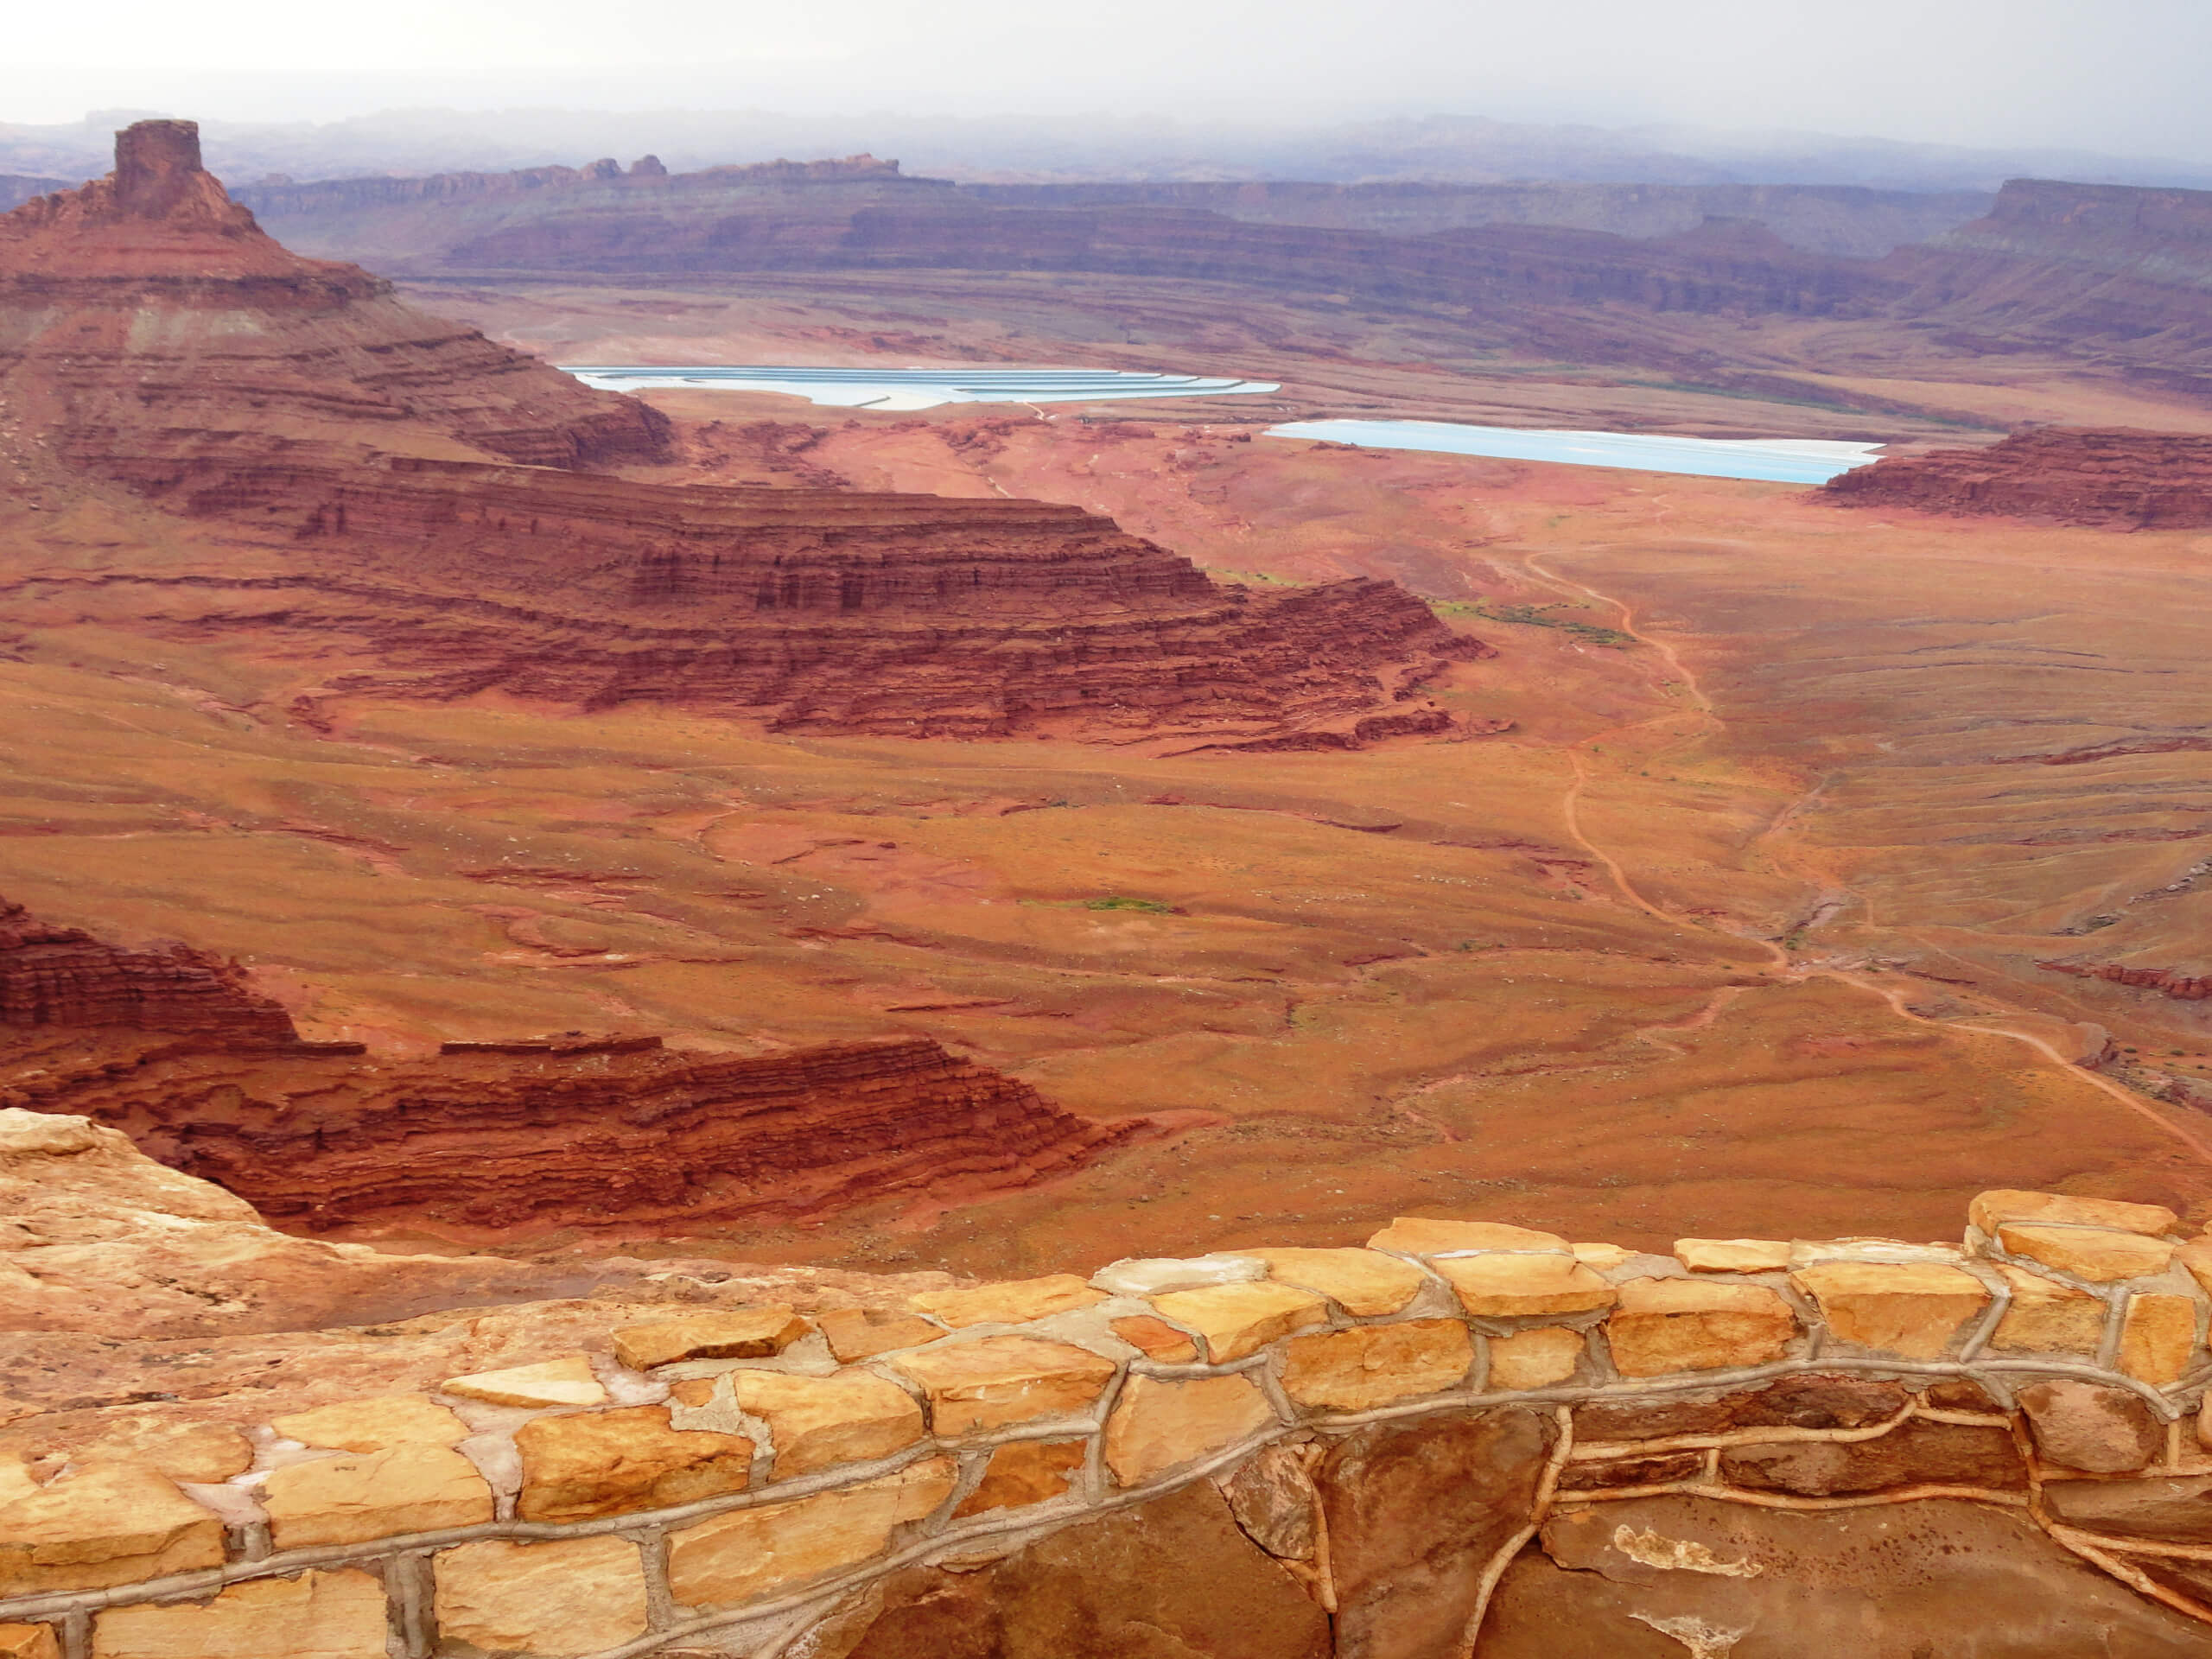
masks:
[[[2035,427],[1989,449],[1936,449],[1856,467],[1823,484],[1840,507],[1997,513],[2101,529],[2212,524],[2212,438]]]

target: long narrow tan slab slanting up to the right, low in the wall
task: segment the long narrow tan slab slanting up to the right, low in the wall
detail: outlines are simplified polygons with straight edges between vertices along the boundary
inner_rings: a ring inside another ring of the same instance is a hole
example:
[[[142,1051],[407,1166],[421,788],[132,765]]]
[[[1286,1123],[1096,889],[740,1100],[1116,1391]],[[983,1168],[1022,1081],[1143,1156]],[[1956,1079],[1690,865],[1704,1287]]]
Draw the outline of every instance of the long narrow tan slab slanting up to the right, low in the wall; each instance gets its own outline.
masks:
[[[856,1566],[951,1498],[956,1473],[951,1458],[925,1458],[883,1480],[686,1526],[668,1535],[668,1588],[681,1606],[741,1606]]]

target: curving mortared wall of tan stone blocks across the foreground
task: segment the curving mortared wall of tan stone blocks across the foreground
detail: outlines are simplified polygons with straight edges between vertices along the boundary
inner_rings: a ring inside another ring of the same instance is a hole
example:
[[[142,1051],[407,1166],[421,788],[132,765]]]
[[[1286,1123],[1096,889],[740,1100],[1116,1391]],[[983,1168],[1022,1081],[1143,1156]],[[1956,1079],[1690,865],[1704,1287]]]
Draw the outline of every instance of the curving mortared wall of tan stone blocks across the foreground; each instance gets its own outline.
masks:
[[[1606,1526],[1652,1498],[2006,1511],[2212,1624],[2205,1285],[2212,1237],[2170,1210],[1986,1192],[1964,1248],[1648,1256],[1400,1219],[1365,1250],[1128,1261],[909,1314],[688,1312],[431,1394],[241,1413],[206,1429],[208,1480],[0,1462],[0,1657],[779,1655],[856,1590],[880,1606],[911,1568],[1199,1482],[1345,1655],[1489,1648],[1540,1533],[1630,1577],[1763,1571]],[[1418,1595],[1360,1531],[1376,1433],[1407,1425],[1515,1447],[1484,1453],[1480,1548]],[[1431,1635],[1378,1635],[1409,1606]]]

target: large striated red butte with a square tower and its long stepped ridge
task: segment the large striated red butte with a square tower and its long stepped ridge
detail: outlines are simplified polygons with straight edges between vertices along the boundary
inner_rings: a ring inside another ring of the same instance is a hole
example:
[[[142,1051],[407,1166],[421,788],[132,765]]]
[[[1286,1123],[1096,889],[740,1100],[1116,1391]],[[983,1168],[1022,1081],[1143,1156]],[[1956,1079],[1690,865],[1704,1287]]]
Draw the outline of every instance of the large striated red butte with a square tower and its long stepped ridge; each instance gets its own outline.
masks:
[[[29,491],[106,478],[259,549],[234,582],[108,564],[108,591],[170,635],[356,641],[385,666],[330,670],[356,690],[1358,743],[1449,726],[1407,703],[1486,650],[1389,584],[1223,588],[1066,507],[580,476],[659,458],[666,422],[290,254],[188,122],[0,217],[0,398]]]

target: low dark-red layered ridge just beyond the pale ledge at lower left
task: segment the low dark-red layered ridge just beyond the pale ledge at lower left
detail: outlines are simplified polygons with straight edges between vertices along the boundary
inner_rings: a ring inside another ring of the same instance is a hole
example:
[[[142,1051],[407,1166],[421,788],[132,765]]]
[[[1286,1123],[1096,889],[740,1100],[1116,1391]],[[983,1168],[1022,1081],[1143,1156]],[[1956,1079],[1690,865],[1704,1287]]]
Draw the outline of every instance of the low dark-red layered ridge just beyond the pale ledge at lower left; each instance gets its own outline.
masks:
[[[376,1066],[38,1057],[0,1082],[0,1106],[126,1130],[159,1161],[312,1232],[697,1230],[900,1192],[958,1201],[1066,1175],[1155,1130],[1146,1117],[1075,1117],[927,1037],[774,1055],[478,1046]]]

